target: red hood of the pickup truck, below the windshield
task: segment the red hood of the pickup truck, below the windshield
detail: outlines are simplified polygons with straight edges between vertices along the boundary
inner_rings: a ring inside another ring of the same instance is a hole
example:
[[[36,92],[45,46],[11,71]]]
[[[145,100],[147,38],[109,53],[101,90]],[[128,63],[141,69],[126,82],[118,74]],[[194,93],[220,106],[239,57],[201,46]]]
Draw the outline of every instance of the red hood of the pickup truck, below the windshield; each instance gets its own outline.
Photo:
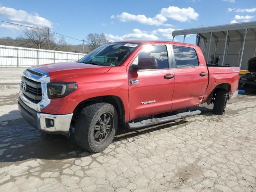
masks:
[[[69,79],[88,76],[93,74],[106,73],[110,70],[109,66],[98,66],[92,64],[84,64],[78,62],[62,62],[40,66],[33,66],[40,70],[46,71],[50,75],[50,81],[68,81]]]

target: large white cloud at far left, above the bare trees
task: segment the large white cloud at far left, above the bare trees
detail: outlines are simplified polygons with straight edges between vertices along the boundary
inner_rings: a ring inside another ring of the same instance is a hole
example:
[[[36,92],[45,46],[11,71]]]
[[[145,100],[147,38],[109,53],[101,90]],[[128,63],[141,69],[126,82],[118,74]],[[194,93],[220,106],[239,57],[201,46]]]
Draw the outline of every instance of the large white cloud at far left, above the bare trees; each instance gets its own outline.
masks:
[[[14,8],[0,6],[0,15],[6,16],[7,20],[16,24],[22,24],[26,26],[44,26],[52,28],[52,22],[39,16],[38,13],[28,13],[24,10],[16,10]],[[1,24],[1,27],[12,28],[8,24]],[[18,30],[21,27],[16,26],[12,29]]]

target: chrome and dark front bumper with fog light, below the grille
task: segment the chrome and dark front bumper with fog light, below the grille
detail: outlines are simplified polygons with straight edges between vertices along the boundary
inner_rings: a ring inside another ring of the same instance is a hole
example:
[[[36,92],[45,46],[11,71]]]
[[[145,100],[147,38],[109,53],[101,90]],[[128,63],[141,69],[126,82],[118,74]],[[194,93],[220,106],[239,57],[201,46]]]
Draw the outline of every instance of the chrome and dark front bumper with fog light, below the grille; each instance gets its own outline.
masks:
[[[73,114],[54,115],[37,112],[18,98],[22,117],[34,128],[48,134],[68,134]]]

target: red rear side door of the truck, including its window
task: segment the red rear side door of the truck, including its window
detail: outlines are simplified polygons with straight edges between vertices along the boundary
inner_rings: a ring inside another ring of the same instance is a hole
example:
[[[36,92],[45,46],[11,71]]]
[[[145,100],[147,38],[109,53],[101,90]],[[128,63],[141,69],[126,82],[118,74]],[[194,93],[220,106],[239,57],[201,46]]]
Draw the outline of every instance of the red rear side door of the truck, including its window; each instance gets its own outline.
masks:
[[[191,46],[172,45],[174,55],[174,94],[172,110],[197,106],[208,85],[206,65],[199,63],[196,50]]]

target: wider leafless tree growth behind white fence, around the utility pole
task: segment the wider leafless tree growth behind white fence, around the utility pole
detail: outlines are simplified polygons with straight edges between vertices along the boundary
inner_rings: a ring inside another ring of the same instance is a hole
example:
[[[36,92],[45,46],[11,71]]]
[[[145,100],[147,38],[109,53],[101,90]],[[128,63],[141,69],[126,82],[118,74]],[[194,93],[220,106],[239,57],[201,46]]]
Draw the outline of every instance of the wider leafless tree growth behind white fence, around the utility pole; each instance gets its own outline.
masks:
[[[25,29],[23,32],[23,36],[20,38],[24,42],[24,44],[36,45],[39,49],[45,48],[48,49],[48,44],[50,42],[51,50],[59,50],[66,46],[66,40],[63,36],[60,38],[55,37],[54,33],[49,33],[48,37],[48,28],[32,28]]]

